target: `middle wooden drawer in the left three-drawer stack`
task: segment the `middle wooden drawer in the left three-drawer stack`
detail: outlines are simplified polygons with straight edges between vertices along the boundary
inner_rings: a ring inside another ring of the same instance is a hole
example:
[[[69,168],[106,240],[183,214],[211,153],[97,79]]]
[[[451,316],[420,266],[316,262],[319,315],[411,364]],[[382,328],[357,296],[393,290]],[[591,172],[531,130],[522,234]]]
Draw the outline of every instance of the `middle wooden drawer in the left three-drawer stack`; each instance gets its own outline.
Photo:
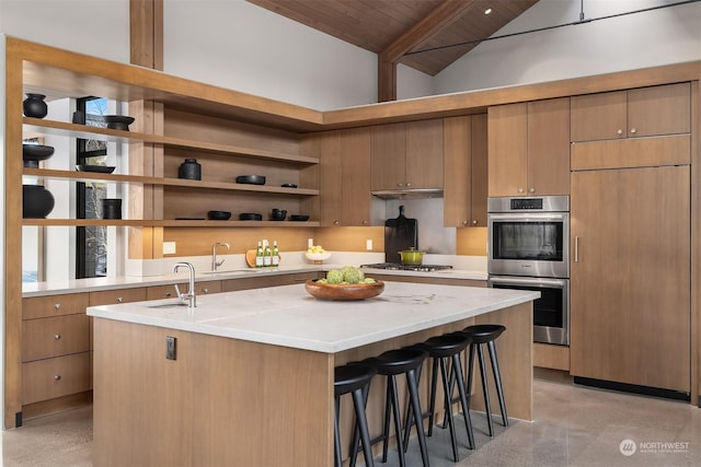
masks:
[[[26,319],[22,323],[22,361],[48,359],[90,349],[88,315]]]

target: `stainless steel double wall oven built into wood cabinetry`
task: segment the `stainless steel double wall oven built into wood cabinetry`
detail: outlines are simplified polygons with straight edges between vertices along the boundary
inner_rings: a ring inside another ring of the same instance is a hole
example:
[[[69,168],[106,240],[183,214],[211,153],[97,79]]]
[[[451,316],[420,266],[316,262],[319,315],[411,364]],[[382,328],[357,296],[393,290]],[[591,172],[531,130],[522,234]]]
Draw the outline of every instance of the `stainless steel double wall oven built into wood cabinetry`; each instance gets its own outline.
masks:
[[[490,198],[489,287],[533,290],[533,341],[570,345],[570,197]]]

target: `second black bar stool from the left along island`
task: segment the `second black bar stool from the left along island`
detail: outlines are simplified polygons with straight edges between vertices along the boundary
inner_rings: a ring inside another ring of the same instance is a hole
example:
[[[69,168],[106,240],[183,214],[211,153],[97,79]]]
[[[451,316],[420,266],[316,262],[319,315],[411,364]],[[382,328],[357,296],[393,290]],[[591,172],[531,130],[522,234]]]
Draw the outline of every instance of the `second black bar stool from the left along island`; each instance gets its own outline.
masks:
[[[422,419],[421,400],[418,398],[418,378],[417,371],[421,369],[428,353],[416,348],[404,348],[389,350],[378,357],[374,357],[361,362],[363,366],[369,366],[377,370],[379,375],[387,376],[387,395],[384,399],[384,423],[382,434],[370,442],[370,444],[382,441],[382,463],[387,462],[390,439],[390,418],[393,415],[394,432],[397,434],[397,448],[399,452],[399,465],[404,467],[406,458],[404,456],[404,442],[402,440],[402,423],[399,411],[399,395],[397,392],[397,376],[406,375],[406,387],[409,389],[410,408],[414,413],[414,420]],[[424,433],[423,423],[416,422],[416,437],[418,437],[418,447],[424,467],[428,467],[428,451],[426,448],[426,434]],[[354,434],[353,447],[350,456],[350,467],[355,466],[358,454],[358,433]]]

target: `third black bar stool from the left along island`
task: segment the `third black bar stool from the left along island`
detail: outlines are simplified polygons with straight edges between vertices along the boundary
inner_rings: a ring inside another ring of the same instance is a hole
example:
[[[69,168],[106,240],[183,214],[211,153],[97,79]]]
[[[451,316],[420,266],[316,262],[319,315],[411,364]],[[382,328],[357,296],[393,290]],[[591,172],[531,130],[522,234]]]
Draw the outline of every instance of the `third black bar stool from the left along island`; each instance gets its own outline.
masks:
[[[438,367],[440,367],[440,376],[443,378],[444,389],[444,407],[446,409],[446,419],[448,420],[448,427],[450,429],[450,441],[452,444],[452,458],[458,462],[458,443],[456,437],[455,422],[452,420],[452,384],[448,382],[448,363],[450,363],[450,374],[455,375],[458,383],[458,399],[462,406],[462,412],[464,415],[464,424],[468,432],[468,447],[474,448],[474,435],[472,432],[472,422],[470,420],[470,405],[464,386],[464,376],[462,374],[462,363],[460,354],[470,345],[471,340],[463,334],[447,334],[443,336],[432,337],[426,341],[416,345],[418,349],[423,349],[428,353],[428,357],[433,359],[433,372],[430,378],[430,406],[428,412],[424,413],[423,418],[428,418],[428,436],[433,435],[434,430],[434,417],[436,413],[436,386],[438,382]],[[407,422],[404,425],[404,445],[409,440],[409,433],[411,423],[413,422],[412,413],[407,412]]]

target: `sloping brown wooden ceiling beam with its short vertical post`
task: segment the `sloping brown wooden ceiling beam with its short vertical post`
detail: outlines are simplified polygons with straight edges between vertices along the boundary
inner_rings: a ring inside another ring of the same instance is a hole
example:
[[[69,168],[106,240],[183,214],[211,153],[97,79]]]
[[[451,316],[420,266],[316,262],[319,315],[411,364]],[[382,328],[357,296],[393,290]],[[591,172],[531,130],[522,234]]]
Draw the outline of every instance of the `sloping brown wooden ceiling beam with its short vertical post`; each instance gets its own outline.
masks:
[[[397,63],[404,54],[443,31],[478,0],[446,0],[378,54],[378,102],[397,101]]]

